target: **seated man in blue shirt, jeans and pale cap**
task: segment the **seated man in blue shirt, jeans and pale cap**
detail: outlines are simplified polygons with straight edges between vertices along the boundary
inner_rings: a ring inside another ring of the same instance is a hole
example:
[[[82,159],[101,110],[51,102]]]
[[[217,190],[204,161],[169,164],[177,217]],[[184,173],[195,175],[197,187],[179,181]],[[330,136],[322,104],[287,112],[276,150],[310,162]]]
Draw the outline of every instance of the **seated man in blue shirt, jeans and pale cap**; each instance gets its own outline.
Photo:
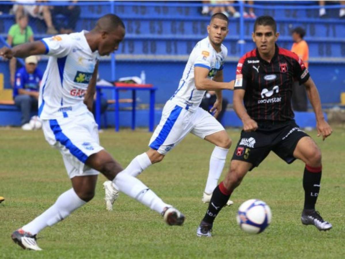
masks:
[[[31,109],[38,107],[39,85],[43,73],[37,68],[37,57],[30,56],[25,59],[25,66],[16,73],[13,99],[21,110],[21,125],[23,130],[32,130],[30,126]]]

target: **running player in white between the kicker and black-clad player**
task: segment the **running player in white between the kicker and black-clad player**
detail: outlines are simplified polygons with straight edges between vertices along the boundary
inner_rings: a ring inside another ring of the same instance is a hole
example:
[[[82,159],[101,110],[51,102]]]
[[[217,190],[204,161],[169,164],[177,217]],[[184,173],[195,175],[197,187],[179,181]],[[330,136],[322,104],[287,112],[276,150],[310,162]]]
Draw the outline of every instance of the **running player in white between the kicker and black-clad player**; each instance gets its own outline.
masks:
[[[223,82],[223,64],[227,49],[222,44],[228,33],[228,18],[223,13],[211,17],[207,26],[208,36],[199,41],[190,53],[186,68],[174,95],[167,101],[161,120],[153,133],[150,149],[134,158],[124,173],[138,176],[150,165],[160,162],[165,155],[183,140],[189,132],[213,143],[214,148],[202,201],[209,202],[224,168],[231,140],[225,129],[215,119],[222,109],[223,89],[233,90],[234,81]],[[217,101],[211,108],[213,117],[199,104],[206,90],[216,91]],[[117,187],[111,181],[103,183],[107,210],[117,198]],[[233,202],[228,201],[228,205]]]

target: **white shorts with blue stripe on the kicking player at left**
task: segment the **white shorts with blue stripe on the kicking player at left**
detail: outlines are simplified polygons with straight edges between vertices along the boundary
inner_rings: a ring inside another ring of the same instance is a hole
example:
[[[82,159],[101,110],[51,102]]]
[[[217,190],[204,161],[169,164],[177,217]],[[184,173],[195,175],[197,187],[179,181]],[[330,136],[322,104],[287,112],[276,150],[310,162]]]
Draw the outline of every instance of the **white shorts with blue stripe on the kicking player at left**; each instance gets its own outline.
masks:
[[[43,120],[42,129],[48,143],[61,152],[69,178],[99,174],[85,165],[89,156],[103,149],[99,145],[98,126],[91,112]]]

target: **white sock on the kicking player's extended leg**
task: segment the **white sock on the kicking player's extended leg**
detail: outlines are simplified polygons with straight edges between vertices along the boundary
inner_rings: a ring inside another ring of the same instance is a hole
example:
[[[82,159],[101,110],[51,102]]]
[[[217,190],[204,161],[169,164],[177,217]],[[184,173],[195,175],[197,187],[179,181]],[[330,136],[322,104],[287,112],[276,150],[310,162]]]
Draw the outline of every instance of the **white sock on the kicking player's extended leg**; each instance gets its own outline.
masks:
[[[162,213],[165,207],[171,207],[171,205],[164,203],[139,179],[130,176],[123,171],[117,174],[113,183],[115,183],[119,191],[136,199],[158,213]]]

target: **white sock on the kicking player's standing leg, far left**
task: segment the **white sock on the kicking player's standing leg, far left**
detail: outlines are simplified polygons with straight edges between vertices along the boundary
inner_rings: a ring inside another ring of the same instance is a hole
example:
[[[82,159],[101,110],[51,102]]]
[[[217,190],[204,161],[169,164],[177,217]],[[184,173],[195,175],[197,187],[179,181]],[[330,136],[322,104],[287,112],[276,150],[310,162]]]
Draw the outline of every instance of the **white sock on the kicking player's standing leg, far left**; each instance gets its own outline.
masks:
[[[83,206],[85,203],[85,201],[78,197],[73,188],[71,188],[62,193],[53,206],[36,219],[23,226],[22,229],[26,232],[30,232],[32,235],[36,235],[43,228],[53,226],[55,223],[65,219],[74,210]]]

